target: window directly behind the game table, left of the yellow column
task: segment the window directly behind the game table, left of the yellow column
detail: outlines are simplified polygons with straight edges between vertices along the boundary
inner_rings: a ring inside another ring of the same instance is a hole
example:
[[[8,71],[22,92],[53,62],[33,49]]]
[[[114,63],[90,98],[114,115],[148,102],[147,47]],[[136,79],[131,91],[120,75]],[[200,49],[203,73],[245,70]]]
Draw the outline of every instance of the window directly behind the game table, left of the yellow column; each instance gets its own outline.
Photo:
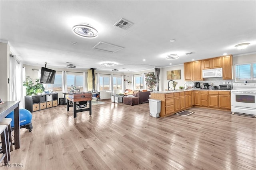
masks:
[[[71,90],[71,85],[75,86],[76,89],[84,91],[84,77],[83,75],[67,74],[67,86],[68,91]]]

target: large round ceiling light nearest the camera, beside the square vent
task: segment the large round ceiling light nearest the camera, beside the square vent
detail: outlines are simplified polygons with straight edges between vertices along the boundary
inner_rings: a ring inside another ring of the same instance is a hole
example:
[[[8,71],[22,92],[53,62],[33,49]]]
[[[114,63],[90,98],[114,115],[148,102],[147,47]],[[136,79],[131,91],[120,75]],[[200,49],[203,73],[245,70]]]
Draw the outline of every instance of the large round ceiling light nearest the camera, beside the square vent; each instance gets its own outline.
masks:
[[[84,38],[95,38],[98,36],[98,31],[89,24],[78,24],[73,27],[73,32]]]

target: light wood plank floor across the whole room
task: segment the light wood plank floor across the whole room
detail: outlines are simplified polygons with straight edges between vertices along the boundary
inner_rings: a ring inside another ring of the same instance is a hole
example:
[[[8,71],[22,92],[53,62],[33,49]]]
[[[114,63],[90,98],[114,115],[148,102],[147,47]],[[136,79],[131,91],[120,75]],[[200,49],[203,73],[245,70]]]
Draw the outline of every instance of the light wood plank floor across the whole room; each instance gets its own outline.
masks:
[[[11,153],[18,170],[256,169],[256,118],[191,108],[193,115],[149,116],[148,103],[102,100],[89,112],[60,105],[32,113],[32,132],[21,129]]]

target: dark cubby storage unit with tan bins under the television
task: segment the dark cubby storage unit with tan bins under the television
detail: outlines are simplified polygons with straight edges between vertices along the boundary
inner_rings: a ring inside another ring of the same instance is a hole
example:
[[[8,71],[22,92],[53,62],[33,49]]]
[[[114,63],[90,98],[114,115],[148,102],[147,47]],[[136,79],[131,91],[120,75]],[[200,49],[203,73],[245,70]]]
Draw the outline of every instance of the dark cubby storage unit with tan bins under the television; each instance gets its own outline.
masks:
[[[58,106],[58,93],[25,96],[25,109],[35,112]]]

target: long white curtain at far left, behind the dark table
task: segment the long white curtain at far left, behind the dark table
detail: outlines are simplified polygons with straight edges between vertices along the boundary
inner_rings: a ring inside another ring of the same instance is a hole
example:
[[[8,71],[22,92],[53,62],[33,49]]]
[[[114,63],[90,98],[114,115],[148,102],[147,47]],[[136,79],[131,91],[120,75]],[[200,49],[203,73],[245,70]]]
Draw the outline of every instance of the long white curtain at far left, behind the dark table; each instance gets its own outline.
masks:
[[[10,57],[10,101],[20,101],[20,108],[24,108],[22,63],[16,56]]]

